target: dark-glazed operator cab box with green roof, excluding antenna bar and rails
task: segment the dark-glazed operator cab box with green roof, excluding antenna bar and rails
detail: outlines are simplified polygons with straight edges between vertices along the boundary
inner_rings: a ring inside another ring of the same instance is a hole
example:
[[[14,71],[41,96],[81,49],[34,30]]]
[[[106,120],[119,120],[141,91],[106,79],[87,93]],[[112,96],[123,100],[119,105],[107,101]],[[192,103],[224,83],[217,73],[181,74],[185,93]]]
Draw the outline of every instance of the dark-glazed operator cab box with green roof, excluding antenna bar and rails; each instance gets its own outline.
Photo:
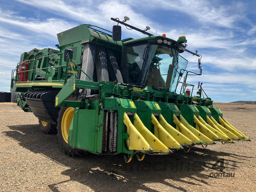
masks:
[[[124,83],[164,88],[159,66],[162,65],[163,69],[172,66],[171,76],[174,77],[179,59],[176,44],[177,41],[162,36],[125,41],[120,66]]]

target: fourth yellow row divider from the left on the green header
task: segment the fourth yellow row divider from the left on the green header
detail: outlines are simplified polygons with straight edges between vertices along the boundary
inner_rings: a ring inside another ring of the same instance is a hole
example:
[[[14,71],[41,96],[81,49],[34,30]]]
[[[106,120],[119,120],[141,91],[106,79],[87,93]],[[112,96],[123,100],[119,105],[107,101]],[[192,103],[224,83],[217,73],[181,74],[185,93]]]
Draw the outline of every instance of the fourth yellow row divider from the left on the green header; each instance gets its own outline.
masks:
[[[176,130],[172,125],[167,123],[167,121],[164,119],[164,117],[160,114],[159,116],[159,123],[164,127],[164,129],[172,135],[176,141],[178,141],[181,145],[192,145],[194,144],[193,141],[191,141],[189,138],[187,138],[185,135],[180,133],[178,130]]]

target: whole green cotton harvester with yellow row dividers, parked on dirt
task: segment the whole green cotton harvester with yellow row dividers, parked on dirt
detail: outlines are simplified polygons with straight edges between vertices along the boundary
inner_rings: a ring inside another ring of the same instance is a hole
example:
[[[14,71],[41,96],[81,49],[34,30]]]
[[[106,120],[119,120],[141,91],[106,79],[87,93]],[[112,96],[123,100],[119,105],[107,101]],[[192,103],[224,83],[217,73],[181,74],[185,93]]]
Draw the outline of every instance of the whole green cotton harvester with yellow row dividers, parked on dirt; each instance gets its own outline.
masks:
[[[185,90],[194,88],[187,76],[202,73],[201,55],[186,49],[185,36],[176,41],[128,25],[128,17],[111,19],[148,36],[121,40],[118,24],[113,32],[80,25],[57,34],[56,50],[23,53],[12,71],[18,105],[33,112],[42,132],[58,134],[65,153],[122,153],[130,162],[133,155],[142,160],[145,154],[217,141],[249,141],[202,96],[202,83],[199,96]],[[186,70],[184,51],[199,57],[200,73]],[[160,73],[160,65],[167,74]]]

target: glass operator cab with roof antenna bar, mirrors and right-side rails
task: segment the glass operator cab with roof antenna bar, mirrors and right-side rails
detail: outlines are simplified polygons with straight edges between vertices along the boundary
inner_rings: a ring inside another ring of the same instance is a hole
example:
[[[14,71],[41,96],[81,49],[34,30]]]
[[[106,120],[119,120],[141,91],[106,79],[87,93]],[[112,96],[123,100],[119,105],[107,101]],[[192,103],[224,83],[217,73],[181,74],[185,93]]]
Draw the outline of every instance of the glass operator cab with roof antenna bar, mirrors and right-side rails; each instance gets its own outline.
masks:
[[[144,88],[150,86],[153,89],[165,89],[167,91],[176,91],[177,85],[186,71],[187,60],[179,55],[184,51],[200,57],[186,49],[187,40],[185,36],[179,36],[178,40],[166,38],[166,35],[156,36],[148,33],[150,27],[146,26],[144,30],[126,24],[129,17],[125,16],[121,21],[119,18],[111,18],[114,22],[124,25],[127,29],[134,29],[148,37],[139,39],[123,39],[122,59],[120,63],[120,72],[123,82],[131,86]],[[113,26],[113,40],[121,40],[121,26]],[[180,60],[180,61],[179,61]],[[163,69],[167,70],[166,82],[162,78],[159,66],[162,64]],[[199,59],[200,75],[201,57]],[[195,73],[196,74],[196,73]],[[178,77],[176,77],[178,76]]]

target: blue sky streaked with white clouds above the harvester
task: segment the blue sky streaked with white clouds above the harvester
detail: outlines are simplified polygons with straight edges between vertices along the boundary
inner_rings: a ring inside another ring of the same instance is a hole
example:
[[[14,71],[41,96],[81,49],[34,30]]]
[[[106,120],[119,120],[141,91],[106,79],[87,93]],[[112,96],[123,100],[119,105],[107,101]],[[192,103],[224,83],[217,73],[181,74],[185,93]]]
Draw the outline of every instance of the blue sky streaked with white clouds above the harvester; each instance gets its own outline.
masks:
[[[9,91],[11,70],[21,53],[54,48],[57,33],[80,24],[111,30],[110,17],[129,16],[129,24],[150,26],[151,33],[173,39],[185,35],[187,49],[203,55],[203,75],[188,82],[203,82],[214,101],[256,100],[256,1],[148,2],[0,0],[0,91]],[[122,38],[142,36],[122,29]],[[197,57],[182,56],[197,72]]]

